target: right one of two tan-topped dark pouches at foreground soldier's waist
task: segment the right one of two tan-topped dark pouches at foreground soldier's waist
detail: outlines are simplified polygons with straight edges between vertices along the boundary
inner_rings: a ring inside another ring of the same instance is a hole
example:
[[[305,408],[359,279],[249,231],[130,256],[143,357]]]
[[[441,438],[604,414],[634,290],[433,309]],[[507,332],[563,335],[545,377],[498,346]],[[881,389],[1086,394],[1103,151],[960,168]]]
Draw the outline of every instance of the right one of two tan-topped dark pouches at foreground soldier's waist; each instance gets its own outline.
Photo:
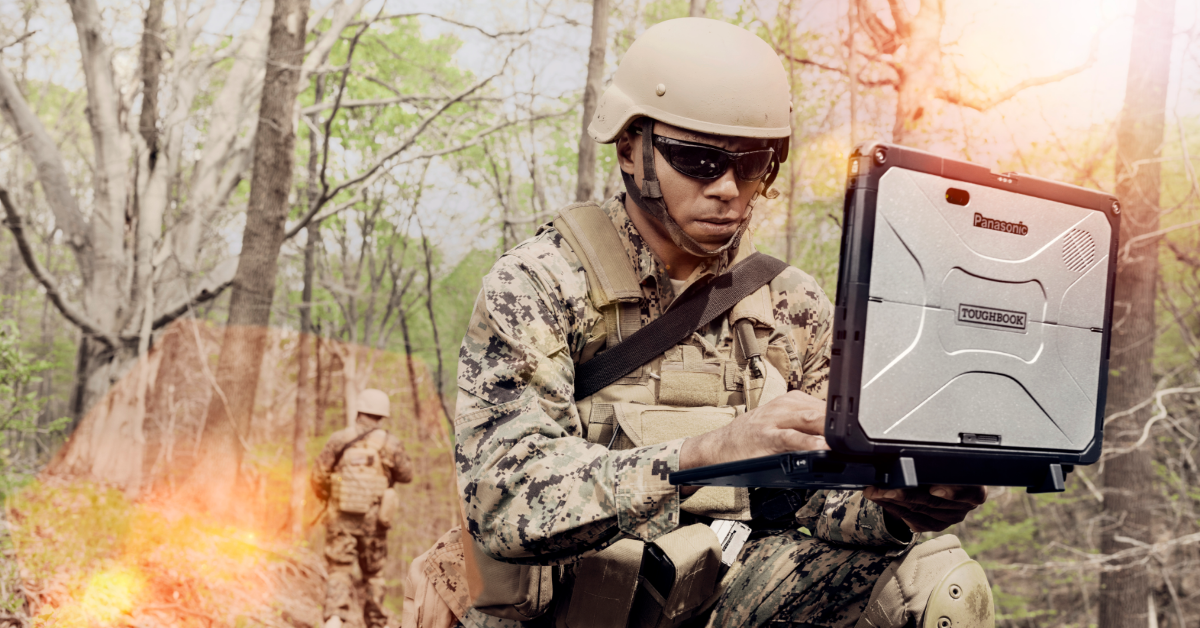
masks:
[[[712,527],[706,524],[682,527],[659,537],[654,545],[674,567],[674,581],[664,596],[647,574],[638,578],[629,623],[634,628],[673,628],[716,602],[721,544]]]

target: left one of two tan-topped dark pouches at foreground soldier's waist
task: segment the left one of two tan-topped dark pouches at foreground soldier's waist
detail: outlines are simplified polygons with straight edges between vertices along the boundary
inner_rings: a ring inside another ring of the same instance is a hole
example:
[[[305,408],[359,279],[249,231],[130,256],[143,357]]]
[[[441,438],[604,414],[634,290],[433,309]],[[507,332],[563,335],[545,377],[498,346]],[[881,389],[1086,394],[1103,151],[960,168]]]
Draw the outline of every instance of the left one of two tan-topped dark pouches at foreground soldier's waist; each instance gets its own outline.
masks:
[[[637,593],[646,544],[620,539],[580,562],[575,569],[566,628],[626,626]]]

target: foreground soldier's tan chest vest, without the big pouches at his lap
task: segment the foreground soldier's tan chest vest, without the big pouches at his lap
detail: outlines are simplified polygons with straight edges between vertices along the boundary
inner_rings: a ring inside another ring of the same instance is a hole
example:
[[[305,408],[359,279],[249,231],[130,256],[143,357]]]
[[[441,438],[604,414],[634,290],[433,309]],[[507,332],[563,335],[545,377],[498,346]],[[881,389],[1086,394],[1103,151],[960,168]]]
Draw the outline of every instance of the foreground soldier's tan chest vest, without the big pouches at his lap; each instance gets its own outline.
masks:
[[[569,205],[553,225],[583,264],[588,297],[604,316],[588,335],[582,364],[641,328],[642,288],[612,220],[599,205]],[[751,251],[745,238],[742,250]],[[698,436],[786,393],[791,372],[786,343],[767,343],[774,330],[770,286],[734,305],[721,324],[733,331],[722,334],[731,339],[725,346],[713,346],[694,333],[664,355],[580,400],[576,407],[587,439],[610,449],[630,449]],[[745,521],[750,519],[745,489],[708,486],[682,508]]]

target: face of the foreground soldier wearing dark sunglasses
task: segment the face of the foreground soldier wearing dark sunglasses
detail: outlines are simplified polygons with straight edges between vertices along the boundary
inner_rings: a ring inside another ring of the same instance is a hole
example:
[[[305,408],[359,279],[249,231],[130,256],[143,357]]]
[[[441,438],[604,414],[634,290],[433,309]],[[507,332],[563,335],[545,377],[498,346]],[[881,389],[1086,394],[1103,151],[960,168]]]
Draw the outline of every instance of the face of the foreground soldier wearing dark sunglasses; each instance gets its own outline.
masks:
[[[745,137],[712,136],[686,131],[665,122],[654,125],[654,133],[685,142],[710,144],[728,151],[740,152],[763,148],[766,140]],[[617,144],[617,156],[620,168],[631,173],[642,185],[642,142],[641,136],[626,133]],[[655,149],[654,169],[662,189],[662,199],[667,211],[679,227],[708,250],[720,249],[737,233],[742,221],[750,211],[750,199],[758,187],[758,181],[738,179],[731,167],[716,179],[695,179],[673,167]]]

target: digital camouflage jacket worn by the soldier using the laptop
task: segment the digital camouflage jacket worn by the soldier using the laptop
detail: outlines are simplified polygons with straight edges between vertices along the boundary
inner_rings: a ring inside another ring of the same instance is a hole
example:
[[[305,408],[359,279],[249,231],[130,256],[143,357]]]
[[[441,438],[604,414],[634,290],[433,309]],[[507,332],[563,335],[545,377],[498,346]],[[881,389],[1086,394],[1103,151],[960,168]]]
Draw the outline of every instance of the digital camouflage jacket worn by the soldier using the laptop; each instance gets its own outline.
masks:
[[[643,325],[674,299],[665,265],[638,235],[622,199],[604,204],[642,285]],[[742,249],[752,245],[743,238]],[[692,283],[724,273],[737,253],[701,265]],[[788,268],[770,282],[774,331],[791,361],[788,389],[823,399],[833,306],[816,281]],[[602,315],[588,299],[578,258],[553,227],[506,252],[484,279],[458,353],[455,463],[472,536],[498,560],[574,562],[618,538],[674,530],[680,496],[667,482],[683,438],[625,450],[586,439],[574,402],[575,364]],[[732,342],[726,318],[700,331]],[[882,509],[860,492],[817,491],[797,525],[835,543],[900,550]]]

